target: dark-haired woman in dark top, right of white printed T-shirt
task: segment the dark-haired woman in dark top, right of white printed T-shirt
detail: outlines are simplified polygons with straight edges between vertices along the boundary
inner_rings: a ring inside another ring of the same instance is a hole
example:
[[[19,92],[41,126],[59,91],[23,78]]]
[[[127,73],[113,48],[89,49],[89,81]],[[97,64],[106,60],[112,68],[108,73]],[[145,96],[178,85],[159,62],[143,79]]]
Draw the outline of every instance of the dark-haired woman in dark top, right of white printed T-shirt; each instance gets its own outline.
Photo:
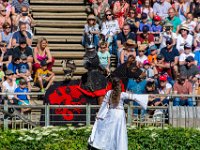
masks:
[[[137,17],[137,12],[134,8],[130,8],[129,16],[126,18],[126,24],[131,27],[131,32],[136,33],[140,26],[140,19]]]

